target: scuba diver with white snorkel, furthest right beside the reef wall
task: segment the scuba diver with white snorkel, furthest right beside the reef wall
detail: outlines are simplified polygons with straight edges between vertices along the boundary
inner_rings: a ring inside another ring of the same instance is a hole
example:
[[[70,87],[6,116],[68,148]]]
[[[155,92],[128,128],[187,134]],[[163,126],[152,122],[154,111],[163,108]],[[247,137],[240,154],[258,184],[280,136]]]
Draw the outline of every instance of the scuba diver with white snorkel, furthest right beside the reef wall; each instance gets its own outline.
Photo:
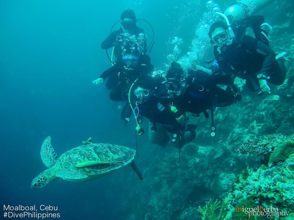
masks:
[[[272,29],[262,16],[251,16],[235,22],[228,18],[215,22],[209,30],[214,46],[215,63],[220,71],[234,78],[233,84],[242,90],[246,85],[251,91],[270,93],[268,82],[283,84],[288,69],[284,53],[275,53],[269,46],[268,32]]]

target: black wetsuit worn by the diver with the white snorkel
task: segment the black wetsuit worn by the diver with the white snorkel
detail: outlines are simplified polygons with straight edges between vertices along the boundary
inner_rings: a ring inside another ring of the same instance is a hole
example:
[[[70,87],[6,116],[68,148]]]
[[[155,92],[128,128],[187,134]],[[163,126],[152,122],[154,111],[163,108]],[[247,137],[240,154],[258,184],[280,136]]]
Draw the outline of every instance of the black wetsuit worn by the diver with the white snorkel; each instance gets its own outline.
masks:
[[[252,91],[260,89],[257,75],[262,73],[274,85],[283,84],[286,68],[283,58],[275,59],[274,51],[257,38],[244,35],[240,43],[224,45],[217,51],[214,48],[220,69],[233,77],[246,79],[246,86]]]

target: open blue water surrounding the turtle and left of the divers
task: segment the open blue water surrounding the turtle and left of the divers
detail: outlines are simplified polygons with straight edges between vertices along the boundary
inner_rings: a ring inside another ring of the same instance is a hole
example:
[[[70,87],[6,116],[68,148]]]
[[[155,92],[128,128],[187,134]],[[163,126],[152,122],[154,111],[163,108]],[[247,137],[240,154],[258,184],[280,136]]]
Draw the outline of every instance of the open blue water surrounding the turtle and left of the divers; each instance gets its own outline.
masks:
[[[218,4],[225,7],[233,2]],[[183,10],[183,4],[199,7]],[[0,210],[4,204],[45,204],[57,206],[61,219],[123,220],[144,209],[148,198],[140,195],[146,196],[151,189],[133,188],[140,180],[129,167],[92,182],[58,179],[32,190],[32,179],[46,168],[41,144],[51,136],[57,155],[89,137],[95,143],[136,149],[134,122],[125,127],[118,103],[109,100],[105,84],[92,84],[111,66],[101,42],[121,12],[134,9],[137,18],[148,20],[155,31],[151,63],[164,68],[170,53],[168,38],[181,33],[187,42],[182,50],[188,51],[205,5],[206,1],[167,0],[0,1]],[[144,22],[138,25],[150,42],[150,27]],[[148,143],[148,136],[138,141]],[[156,166],[148,163],[152,150],[151,145],[139,148],[136,163],[141,171]],[[131,191],[137,191],[137,201],[128,201]],[[129,210],[121,209],[126,202]]]

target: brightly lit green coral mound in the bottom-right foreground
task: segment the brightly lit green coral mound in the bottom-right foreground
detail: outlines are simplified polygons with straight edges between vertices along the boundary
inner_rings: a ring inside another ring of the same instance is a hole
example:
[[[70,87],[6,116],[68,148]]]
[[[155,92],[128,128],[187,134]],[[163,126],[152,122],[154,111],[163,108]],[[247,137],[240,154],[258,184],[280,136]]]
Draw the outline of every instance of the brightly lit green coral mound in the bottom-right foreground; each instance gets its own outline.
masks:
[[[255,206],[272,206],[283,211],[293,211],[294,173],[287,169],[293,162],[294,154],[291,154],[275,166],[261,165],[256,171],[247,168],[238,175],[227,197],[230,210],[227,219],[236,215],[235,208],[243,207],[246,201],[252,201]],[[250,204],[248,208],[252,207],[253,204]]]

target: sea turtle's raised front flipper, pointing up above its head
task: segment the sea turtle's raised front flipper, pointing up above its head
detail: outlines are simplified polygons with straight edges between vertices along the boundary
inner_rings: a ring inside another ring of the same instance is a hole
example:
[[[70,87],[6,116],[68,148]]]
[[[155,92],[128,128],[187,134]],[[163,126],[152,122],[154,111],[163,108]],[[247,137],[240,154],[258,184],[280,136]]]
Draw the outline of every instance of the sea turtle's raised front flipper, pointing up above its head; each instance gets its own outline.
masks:
[[[57,154],[51,146],[51,138],[48,136],[41,147],[41,158],[46,167],[52,167],[57,161]]]

